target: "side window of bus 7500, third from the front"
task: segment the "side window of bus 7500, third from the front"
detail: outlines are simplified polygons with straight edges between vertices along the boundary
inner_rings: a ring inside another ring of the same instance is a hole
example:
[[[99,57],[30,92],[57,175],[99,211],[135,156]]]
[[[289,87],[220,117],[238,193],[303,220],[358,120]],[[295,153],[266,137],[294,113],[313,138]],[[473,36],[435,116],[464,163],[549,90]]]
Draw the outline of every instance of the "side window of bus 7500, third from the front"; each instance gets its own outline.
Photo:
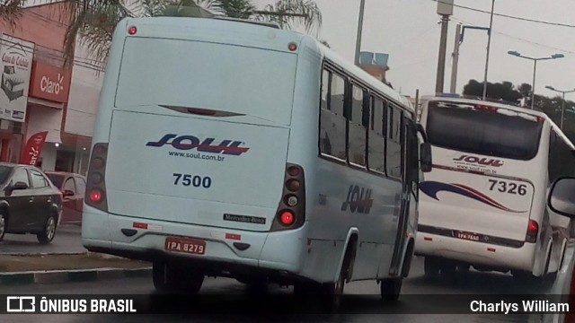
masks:
[[[351,111],[349,111],[349,162],[366,165],[366,126],[364,109],[364,91],[357,85],[351,86]]]

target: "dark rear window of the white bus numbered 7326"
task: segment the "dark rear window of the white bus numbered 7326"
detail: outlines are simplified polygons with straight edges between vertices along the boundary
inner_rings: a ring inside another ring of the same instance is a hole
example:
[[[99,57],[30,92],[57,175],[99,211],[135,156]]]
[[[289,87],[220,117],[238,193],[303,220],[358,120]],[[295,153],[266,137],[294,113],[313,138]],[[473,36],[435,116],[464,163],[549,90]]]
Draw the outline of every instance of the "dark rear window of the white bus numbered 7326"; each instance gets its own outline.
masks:
[[[429,143],[441,148],[527,161],[537,153],[542,127],[509,109],[432,101],[426,131]]]

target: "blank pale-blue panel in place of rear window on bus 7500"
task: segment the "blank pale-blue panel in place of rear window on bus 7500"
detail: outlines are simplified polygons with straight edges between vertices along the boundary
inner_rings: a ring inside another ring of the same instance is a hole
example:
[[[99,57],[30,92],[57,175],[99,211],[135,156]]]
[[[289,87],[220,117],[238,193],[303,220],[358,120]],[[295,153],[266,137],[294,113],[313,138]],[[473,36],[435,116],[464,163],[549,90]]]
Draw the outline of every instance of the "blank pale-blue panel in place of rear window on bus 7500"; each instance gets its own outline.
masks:
[[[115,106],[215,109],[288,125],[296,59],[260,48],[128,38]]]

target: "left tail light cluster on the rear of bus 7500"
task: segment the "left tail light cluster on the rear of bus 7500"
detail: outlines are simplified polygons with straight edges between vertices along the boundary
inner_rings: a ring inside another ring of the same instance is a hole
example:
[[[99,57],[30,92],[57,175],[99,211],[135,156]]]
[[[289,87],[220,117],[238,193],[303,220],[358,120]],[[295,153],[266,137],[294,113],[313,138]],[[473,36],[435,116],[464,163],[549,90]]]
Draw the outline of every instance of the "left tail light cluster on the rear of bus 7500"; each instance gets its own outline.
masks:
[[[98,210],[108,212],[108,200],[106,198],[106,159],[108,157],[108,144],[94,144],[88,176],[86,180],[86,192],[84,203]]]

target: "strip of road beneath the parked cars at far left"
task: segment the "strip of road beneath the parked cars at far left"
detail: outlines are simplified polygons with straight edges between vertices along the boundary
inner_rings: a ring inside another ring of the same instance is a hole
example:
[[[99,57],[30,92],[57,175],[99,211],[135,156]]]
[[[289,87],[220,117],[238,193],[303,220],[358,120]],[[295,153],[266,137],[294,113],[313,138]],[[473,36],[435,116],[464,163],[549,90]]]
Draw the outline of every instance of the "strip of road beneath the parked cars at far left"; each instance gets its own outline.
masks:
[[[62,225],[56,231],[51,244],[42,246],[33,234],[6,234],[0,241],[0,254],[79,253],[82,246],[81,228],[76,225]]]

